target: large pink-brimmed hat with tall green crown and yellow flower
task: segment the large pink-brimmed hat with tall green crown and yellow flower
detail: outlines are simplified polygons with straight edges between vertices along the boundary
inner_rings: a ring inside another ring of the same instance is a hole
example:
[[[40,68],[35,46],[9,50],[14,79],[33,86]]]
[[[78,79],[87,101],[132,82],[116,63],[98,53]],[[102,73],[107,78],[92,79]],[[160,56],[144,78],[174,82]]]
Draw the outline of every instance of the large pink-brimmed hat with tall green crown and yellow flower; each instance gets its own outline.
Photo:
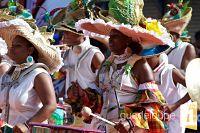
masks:
[[[132,40],[139,42],[143,49],[150,50],[152,55],[159,54],[159,52],[167,50],[170,46],[174,47],[174,42],[171,40],[170,34],[159,21],[155,19],[143,19],[142,9],[144,3],[142,4],[141,2],[134,1],[134,4],[128,6],[128,2],[131,1],[116,1],[115,6],[120,8],[115,9],[113,8],[114,1],[112,1],[112,4],[109,4],[107,15],[99,11],[98,15],[100,19],[79,20],[76,23],[76,29],[78,31],[83,31],[85,35],[101,36],[102,38],[109,38],[110,31],[112,29],[117,29],[126,36],[131,37]],[[135,13],[135,15],[133,13]],[[128,16],[127,19],[120,17],[126,15]],[[141,20],[142,27],[140,26]],[[157,45],[169,46],[157,47]]]

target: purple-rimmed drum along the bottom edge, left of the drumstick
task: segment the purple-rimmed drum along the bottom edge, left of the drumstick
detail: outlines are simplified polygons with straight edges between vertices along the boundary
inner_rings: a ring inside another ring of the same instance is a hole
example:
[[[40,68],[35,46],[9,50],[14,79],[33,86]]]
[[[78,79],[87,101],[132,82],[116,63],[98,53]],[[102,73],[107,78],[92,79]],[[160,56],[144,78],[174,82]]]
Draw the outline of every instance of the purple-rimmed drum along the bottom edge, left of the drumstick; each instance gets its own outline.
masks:
[[[104,133],[99,130],[53,124],[30,123],[30,127],[30,133]]]

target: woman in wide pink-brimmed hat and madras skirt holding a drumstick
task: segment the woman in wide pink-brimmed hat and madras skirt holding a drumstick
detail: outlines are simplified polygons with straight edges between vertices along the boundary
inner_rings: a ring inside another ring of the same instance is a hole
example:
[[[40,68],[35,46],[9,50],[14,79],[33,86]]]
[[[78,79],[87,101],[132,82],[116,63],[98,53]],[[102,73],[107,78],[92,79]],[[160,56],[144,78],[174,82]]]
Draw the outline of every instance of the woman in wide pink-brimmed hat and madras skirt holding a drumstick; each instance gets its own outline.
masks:
[[[131,11],[132,8],[127,9]],[[119,11],[125,12],[123,9]],[[141,11],[139,14],[142,14]],[[129,22],[124,22],[125,24],[120,24],[123,19],[118,24],[113,24],[110,20],[116,17],[106,18],[109,22],[102,19],[84,19],[76,23],[77,30],[83,30],[87,35],[110,37],[109,48],[112,54],[100,68],[97,82],[93,85],[103,96],[102,117],[110,121],[121,121],[115,126],[121,133],[164,133],[165,120],[161,116],[166,102],[154,82],[150,66],[139,53],[155,44],[173,46],[170,35],[156,20],[143,21],[142,26],[145,26],[145,29],[138,25],[125,25],[136,24],[141,18],[135,21],[129,16]],[[118,21],[119,19],[115,19],[113,22]],[[116,132],[104,122],[97,125],[97,128],[106,132]]]

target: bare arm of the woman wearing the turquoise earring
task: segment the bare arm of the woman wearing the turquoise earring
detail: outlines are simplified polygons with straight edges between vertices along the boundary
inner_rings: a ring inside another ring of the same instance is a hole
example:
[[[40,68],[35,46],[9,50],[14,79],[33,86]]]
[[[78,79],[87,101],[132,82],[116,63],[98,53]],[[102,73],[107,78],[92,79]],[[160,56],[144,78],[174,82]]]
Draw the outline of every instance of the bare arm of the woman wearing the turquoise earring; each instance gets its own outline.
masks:
[[[47,120],[56,109],[56,97],[50,76],[46,73],[39,74],[34,81],[36,90],[43,107],[28,120],[28,122],[43,122]]]

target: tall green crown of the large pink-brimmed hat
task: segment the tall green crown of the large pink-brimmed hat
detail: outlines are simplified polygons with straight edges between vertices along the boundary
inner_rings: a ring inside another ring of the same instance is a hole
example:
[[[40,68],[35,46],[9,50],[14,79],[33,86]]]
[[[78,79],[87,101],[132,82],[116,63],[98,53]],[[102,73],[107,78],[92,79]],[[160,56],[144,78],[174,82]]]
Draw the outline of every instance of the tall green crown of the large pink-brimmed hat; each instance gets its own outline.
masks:
[[[143,0],[110,0],[109,14],[120,23],[138,25],[143,16]]]

